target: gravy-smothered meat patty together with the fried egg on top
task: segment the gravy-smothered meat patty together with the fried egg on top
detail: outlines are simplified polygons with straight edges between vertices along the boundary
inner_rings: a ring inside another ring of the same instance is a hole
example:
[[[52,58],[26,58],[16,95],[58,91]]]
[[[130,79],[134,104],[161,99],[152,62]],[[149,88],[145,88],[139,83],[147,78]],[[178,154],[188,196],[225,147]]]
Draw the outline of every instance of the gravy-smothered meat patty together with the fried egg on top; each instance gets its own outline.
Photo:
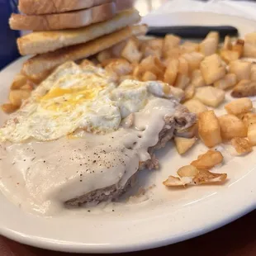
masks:
[[[167,83],[114,81],[104,69],[68,62],[9,116],[0,129],[7,197],[46,214],[116,199],[139,169],[158,167],[155,149],[195,123]]]

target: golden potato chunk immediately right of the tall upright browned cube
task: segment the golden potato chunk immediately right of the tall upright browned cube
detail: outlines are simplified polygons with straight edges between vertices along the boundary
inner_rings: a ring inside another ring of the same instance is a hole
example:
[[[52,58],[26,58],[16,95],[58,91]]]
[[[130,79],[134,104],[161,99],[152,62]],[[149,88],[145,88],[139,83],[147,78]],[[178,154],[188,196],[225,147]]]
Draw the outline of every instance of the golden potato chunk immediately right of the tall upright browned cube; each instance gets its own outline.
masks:
[[[223,140],[231,140],[235,137],[243,138],[247,135],[247,127],[237,116],[230,114],[219,116],[219,123]]]

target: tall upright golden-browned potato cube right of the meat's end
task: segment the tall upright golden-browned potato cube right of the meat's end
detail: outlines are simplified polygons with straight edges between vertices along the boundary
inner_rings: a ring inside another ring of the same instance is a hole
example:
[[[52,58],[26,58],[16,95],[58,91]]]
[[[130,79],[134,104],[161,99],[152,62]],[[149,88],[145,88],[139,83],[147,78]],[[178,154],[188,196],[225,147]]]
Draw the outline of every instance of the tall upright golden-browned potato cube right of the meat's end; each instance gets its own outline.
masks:
[[[222,142],[219,120],[214,111],[204,111],[199,114],[198,134],[203,143],[209,148]]]

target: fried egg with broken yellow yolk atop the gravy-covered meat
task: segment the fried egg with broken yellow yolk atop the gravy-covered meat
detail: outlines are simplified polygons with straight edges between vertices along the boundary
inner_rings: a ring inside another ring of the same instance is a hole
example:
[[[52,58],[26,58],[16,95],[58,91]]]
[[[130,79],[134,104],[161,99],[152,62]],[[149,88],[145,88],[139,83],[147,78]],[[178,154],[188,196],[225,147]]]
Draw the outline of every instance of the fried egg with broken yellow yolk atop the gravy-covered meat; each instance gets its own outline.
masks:
[[[0,140],[57,140],[78,129],[105,134],[118,130],[123,118],[152,97],[171,97],[168,84],[125,80],[118,85],[104,69],[68,62],[10,116]]]

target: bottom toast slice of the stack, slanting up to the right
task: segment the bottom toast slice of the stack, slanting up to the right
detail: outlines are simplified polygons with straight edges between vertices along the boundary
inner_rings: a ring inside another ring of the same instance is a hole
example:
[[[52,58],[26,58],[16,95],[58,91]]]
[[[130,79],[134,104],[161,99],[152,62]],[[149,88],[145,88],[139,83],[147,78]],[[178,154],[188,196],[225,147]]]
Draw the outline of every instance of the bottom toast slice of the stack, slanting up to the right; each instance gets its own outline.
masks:
[[[47,70],[54,69],[60,64],[64,64],[68,60],[88,58],[89,56],[116,45],[122,40],[128,39],[130,36],[145,35],[146,31],[147,26],[145,25],[127,26],[120,31],[102,36],[97,40],[92,40],[85,44],[73,45],[47,54],[36,55],[23,64],[22,73],[28,77],[38,75]]]

